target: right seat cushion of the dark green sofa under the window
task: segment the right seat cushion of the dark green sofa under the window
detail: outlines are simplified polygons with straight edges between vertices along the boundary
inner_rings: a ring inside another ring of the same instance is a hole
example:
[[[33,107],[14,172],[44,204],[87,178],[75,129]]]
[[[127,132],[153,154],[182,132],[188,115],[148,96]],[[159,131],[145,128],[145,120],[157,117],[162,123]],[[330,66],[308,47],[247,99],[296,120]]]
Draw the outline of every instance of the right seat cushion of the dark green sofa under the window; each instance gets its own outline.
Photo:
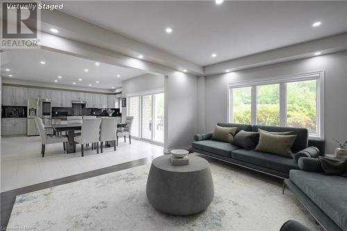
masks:
[[[282,171],[284,173],[289,173],[289,170],[291,169],[299,169],[298,163],[294,159],[254,150],[235,150],[232,151],[231,157],[236,160],[264,166],[266,168]]]

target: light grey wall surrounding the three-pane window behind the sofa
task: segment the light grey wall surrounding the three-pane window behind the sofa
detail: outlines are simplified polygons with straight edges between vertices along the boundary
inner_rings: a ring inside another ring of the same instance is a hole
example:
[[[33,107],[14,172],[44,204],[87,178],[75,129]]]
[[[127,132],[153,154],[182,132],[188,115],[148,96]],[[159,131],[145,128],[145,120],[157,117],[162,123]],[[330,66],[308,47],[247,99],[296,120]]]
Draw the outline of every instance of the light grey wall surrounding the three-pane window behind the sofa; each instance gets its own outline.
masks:
[[[332,138],[347,139],[347,51],[206,77],[205,132],[228,120],[228,83],[319,70],[325,70],[325,151],[333,153]]]

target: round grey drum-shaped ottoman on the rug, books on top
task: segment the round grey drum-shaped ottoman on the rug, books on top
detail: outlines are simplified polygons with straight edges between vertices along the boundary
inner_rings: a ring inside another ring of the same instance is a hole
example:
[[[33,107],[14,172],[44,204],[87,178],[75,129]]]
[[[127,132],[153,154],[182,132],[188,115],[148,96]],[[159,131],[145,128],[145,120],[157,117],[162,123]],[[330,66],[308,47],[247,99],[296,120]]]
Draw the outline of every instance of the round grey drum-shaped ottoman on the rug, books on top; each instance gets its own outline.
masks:
[[[174,166],[171,155],[155,158],[149,171],[146,194],[156,209],[174,215],[201,212],[214,197],[210,164],[189,155],[189,165]]]

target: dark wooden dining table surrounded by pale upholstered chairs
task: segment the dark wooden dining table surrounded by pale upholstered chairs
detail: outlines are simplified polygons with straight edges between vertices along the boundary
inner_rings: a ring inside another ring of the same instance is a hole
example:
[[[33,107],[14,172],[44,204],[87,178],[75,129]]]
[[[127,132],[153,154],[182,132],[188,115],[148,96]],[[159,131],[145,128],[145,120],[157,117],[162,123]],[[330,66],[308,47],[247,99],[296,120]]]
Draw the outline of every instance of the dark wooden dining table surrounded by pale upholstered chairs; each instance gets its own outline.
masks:
[[[118,123],[117,128],[125,128],[127,123]],[[75,131],[82,129],[82,122],[62,121],[58,124],[44,126],[44,128],[53,128],[53,135],[59,132],[67,132],[67,153],[76,153],[76,145],[74,144]]]

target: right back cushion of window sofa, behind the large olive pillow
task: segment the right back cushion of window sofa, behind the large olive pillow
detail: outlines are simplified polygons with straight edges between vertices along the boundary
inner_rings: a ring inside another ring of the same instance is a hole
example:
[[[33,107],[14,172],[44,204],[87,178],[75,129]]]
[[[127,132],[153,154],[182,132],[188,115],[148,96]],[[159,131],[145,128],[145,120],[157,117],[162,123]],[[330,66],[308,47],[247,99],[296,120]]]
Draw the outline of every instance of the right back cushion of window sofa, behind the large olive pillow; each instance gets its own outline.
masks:
[[[258,128],[269,131],[269,132],[292,131],[290,135],[297,135],[297,137],[294,141],[293,146],[291,146],[291,151],[293,153],[298,153],[299,151],[307,148],[308,130],[306,128],[289,128],[289,127],[253,125],[253,132],[257,132]]]

